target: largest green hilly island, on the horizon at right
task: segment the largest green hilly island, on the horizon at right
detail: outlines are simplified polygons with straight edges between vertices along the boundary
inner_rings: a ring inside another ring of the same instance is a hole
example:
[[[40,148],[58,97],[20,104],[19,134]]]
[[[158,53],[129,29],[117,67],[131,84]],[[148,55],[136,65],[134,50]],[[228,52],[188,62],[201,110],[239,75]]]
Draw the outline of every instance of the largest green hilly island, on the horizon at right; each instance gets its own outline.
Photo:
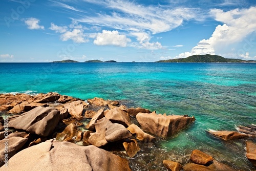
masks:
[[[193,55],[187,58],[159,60],[156,62],[234,62],[234,63],[245,63],[245,62],[256,62],[256,60],[242,60],[242,59],[230,59],[224,58],[219,55]]]

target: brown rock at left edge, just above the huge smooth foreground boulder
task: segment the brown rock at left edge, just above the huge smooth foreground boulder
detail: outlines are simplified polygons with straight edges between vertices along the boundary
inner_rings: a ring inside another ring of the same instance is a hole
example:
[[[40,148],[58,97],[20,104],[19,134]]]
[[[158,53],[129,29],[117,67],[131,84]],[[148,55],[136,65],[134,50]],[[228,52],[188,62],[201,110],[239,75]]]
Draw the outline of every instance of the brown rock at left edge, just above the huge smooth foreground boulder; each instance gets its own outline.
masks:
[[[18,151],[20,148],[23,147],[23,145],[27,142],[27,140],[28,138],[22,138],[22,137],[8,137],[8,140],[6,139],[1,140],[0,141],[0,157],[1,157],[0,166],[3,166],[5,164],[5,161],[10,160],[10,158],[16,154],[16,151]]]

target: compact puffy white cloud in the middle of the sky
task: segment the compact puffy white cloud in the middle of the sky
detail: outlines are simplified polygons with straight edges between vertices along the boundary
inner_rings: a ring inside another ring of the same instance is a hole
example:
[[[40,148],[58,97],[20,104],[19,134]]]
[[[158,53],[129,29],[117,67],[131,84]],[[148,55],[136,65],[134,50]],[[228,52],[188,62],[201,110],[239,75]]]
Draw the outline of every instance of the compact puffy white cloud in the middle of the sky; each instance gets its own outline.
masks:
[[[128,42],[131,42],[130,38],[125,35],[119,34],[118,31],[102,30],[102,33],[96,34],[96,39],[93,41],[95,45],[115,45],[120,47],[126,47]]]

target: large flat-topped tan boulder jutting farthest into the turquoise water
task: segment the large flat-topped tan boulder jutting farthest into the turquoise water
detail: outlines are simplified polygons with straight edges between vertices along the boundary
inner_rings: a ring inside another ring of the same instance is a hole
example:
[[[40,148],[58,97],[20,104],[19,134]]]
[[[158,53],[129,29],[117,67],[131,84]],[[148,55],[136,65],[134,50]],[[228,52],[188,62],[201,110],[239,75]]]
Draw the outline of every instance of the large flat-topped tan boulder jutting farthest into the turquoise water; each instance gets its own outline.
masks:
[[[184,129],[195,118],[179,115],[156,114],[156,112],[138,113],[136,118],[141,129],[159,137],[169,137]]]

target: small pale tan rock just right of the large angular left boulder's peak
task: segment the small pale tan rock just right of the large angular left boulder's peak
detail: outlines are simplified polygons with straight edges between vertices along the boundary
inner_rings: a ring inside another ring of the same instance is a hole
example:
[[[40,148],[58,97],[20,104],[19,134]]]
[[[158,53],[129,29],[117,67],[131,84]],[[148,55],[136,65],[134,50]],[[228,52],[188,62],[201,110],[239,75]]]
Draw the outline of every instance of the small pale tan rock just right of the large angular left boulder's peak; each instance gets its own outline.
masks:
[[[82,117],[83,102],[81,100],[67,103],[64,105],[68,109],[70,115],[74,118]]]

